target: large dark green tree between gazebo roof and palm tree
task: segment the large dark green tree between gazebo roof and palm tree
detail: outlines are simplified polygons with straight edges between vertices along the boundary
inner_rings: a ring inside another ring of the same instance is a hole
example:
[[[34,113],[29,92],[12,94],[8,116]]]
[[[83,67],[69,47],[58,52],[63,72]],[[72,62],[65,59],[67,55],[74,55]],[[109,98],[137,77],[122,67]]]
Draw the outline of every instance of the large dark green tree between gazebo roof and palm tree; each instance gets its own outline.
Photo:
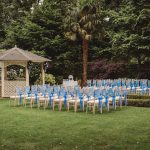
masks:
[[[9,25],[6,38],[0,46],[11,48],[16,44],[25,50],[44,51],[46,57],[51,57],[53,69],[50,71],[55,76],[66,78],[73,74],[79,77],[80,46],[70,44],[63,35],[62,21],[69,3],[73,1],[44,0],[42,5],[34,5],[32,13]]]

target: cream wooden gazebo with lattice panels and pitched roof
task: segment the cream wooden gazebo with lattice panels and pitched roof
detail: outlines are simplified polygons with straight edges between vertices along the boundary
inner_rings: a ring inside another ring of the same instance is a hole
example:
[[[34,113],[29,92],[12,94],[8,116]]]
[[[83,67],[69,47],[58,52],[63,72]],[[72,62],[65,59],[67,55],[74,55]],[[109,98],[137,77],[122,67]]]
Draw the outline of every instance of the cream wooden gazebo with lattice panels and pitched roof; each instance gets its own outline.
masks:
[[[0,97],[15,95],[16,87],[29,86],[29,62],[41,63],[43,84],[45,73],[43,65],[51,61],[16,46],[0,52]]]

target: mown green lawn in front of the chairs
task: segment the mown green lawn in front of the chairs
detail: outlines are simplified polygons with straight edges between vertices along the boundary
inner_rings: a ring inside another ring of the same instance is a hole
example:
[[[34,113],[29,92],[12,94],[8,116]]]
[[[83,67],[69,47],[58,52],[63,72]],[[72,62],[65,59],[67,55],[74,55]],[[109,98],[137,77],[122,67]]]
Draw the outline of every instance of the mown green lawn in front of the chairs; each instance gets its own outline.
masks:
[[[0,100],[0,150],[150,149],[150,108],[103,114],[9,107]]]

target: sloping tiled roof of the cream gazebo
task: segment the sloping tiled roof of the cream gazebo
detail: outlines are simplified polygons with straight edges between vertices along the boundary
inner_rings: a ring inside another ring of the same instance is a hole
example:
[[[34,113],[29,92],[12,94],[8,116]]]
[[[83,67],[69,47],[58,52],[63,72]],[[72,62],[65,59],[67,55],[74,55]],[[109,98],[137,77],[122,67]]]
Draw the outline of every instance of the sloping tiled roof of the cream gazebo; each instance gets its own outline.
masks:
[[[29,51],[17,48],[11,48],[6,51],[0,52],[0,61],[33,61],[33,62],[45,62],[51,61],[50,59],[38,56]]]

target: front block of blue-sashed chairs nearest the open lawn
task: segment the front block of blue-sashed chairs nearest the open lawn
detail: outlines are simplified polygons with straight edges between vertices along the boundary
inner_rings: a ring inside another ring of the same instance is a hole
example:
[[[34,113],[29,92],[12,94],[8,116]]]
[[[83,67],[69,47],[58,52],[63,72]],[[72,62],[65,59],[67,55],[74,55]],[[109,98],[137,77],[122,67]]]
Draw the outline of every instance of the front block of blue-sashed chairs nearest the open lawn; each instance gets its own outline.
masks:
[[[125,101],[127,105],[127,93],[117,93],[119,91],[100,89],[94,90],[93,88],[83,88],[79,86],[75,87],[61,87],[61,86],[32,86],[25,87],[24,91],[20,88],[16,89],[16,95],[11,96],[11,99],[14,99],[14,104],[16,102],[18,105],[27,106],[30,104],[30,107],[41,106],[45,108],[52,108],[55,110],[55,106],[58,106],[59,111],[62,110],[62,107],[70,110],[71,107],[74,108],[76,112],[78,108],[80,110],[86,111],[92,110],[95,113],[95,109],[99,108],[100,113],[102,113],[103,107],[109,111],[109,106],[112,105],[116,109],[116,103],[122,107],[122,100]]]

